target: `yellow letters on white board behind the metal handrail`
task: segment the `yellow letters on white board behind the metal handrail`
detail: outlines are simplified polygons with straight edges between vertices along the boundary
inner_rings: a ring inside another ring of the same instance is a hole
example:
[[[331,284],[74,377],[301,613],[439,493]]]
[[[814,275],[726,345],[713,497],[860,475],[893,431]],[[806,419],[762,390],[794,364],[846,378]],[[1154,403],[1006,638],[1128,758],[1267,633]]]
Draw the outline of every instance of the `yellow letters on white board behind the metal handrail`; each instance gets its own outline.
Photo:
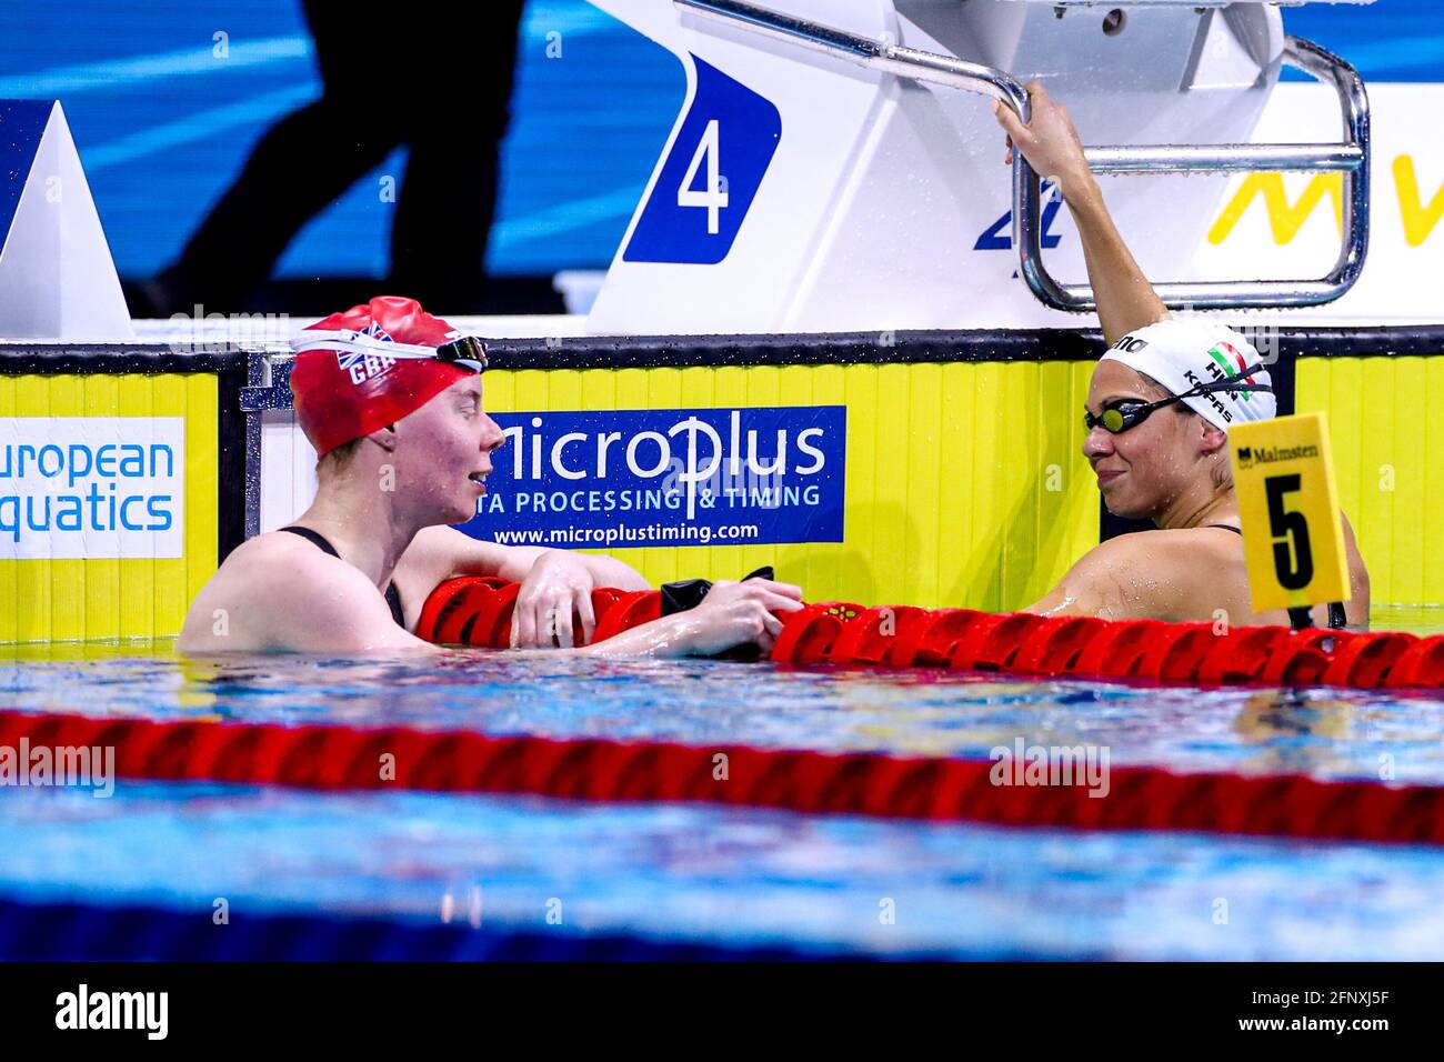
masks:
[[[1209,230],[1209,243],[1220,244],[1227,240],[1255,199],[1264,201],[1274,243],[1279,246],[1294,241],[1294,237],[1324,199],[1328,199],[1333,207],[1334,223],[1343,233],[1343,173],[1320,173],[1310,179],[1298,199],[1291,202],[1288,191],[1284,188],[1282,173],[1251,173],[1225,205],[1219,220],[1213,223],[1213,228]],[[1409,247],[1422,247],[1424,241],[1434,233],[1440,218],[1444,218],[1444,185],[1425,204],[1419,191],[1414,156],[1401,155],[1393,160],[1393,188],[1399,204],[1399,217],[1404,221],[1404,238]]]

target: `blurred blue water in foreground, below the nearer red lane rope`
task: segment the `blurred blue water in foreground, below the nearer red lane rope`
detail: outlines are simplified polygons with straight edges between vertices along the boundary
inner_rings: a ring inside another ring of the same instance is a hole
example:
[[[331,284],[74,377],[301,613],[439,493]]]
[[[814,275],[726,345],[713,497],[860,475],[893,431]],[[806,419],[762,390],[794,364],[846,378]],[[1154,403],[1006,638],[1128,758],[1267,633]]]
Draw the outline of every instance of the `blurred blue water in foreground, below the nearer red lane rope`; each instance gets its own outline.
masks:
[[[16,790],[0,845],[3,899],[150,903],[205,926],[218,899],[235,926],[290,912],[439,925],[449,896],[452,923],[492,932],[804,954],[1444,952],[1444,851],[1405,845],[156,783],[110,800]]]

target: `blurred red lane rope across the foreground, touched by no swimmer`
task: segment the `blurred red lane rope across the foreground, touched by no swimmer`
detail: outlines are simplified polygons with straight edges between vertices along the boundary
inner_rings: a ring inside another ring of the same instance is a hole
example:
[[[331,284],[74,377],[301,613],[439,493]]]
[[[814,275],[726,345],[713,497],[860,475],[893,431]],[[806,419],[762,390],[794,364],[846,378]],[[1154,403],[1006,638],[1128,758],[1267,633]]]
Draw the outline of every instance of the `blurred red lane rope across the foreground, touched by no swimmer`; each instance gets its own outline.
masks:
[[[1444,787],[1302,776],[1112,767],[1108,795],[1090,796],[1083,785],[995,785],[999,764],[979,760],[0,711],[0,744],[17,747],[22,740],[32,748],[113,747],[117,774],[131,779],[696,800],[1008,826],[1444,844]]]

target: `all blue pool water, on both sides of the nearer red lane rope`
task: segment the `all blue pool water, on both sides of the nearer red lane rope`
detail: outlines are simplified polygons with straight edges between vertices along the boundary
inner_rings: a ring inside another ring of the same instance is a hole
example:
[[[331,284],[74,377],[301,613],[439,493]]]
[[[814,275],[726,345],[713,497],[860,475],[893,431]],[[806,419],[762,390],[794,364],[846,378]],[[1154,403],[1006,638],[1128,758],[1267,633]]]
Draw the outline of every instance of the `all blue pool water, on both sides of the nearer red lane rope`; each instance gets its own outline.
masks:
[[[168,642],[9,646],[6,656],[0,709],[22,712],[969,759],[1021,738],[1103,746],[1118,766],[1444,785],[1440,695],[562,653],[199,663]],[[121,779],[110,799],[0,790],[0,851],[12,925],[13,905],[140,905],[204,935],[224,897],[237,919],[439,926],[445,912],[452,928],[481,926],[465,932],[742,952],[1444,955],[1444,848],[1430,845]]]

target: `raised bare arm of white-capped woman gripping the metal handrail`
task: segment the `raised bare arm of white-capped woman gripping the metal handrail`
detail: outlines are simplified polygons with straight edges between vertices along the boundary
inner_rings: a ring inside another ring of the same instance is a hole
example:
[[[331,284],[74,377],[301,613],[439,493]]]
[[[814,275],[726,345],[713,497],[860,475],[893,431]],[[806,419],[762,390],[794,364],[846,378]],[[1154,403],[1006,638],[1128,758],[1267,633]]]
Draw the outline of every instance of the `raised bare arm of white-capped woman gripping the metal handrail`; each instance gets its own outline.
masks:
[[[1123,335],[1168,316],[1168,309],[1138,267],[1119,236],[1103,191],[1089,169],[1073,120],[1037,81],[1028,84],[1032,120],[1024,126],[1012,108],[993,101],[998,124],[1008,133],[1008,162],[1017,147],[1028,163],[1063,192],[1087,262],[1087,279],[1097,302],[1103,337],[1112,347]]]

